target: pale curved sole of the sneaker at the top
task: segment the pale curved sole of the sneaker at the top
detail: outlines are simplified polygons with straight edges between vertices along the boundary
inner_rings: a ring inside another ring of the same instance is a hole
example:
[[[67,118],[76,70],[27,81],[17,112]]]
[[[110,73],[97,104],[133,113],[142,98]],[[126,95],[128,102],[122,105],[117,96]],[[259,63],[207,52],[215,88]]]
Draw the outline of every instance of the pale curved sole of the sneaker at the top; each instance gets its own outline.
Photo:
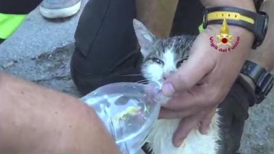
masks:
[[[66,18],[76,14],[81,8],[81,1],[69,8],[62,9],[47,9],[42,6],[39,7],[42,16],[45,18]]]

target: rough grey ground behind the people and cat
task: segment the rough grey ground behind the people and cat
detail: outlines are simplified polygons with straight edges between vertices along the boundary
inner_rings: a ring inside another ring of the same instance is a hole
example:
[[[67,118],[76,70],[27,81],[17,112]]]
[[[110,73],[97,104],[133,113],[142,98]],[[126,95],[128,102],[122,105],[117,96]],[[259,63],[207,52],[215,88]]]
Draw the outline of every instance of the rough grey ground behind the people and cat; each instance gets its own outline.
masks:
[[[69,72],[78,18],[79,13],[73,18],[47,21],[35,10],[21,28],[1,44],[0,70],[79,96]],[[274,153],[273,109],[272,90],[262,104],[249,111],[240,148],[242,154]]]

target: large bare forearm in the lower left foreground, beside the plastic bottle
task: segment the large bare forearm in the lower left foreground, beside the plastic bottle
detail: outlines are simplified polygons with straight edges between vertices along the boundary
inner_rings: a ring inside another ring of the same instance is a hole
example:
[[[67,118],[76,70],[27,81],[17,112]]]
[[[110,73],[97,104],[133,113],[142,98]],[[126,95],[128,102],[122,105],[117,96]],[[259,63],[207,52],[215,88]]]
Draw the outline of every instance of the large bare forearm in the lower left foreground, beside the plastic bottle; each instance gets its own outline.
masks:
[[[0,73],[0,153],[119,153],[78,99]]]

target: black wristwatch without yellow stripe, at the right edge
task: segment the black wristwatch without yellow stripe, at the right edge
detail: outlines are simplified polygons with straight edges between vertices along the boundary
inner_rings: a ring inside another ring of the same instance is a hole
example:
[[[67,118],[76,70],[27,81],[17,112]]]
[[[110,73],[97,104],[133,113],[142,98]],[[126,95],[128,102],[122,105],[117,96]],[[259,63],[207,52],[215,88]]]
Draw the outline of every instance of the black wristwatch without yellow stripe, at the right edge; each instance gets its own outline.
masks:
[[[266,69],[249,60],[245,61],[240,73],[247,75],[247,77],[252,79],[253,83],[256,85],[256,103],[261,103],[273,88],[273,75]]]

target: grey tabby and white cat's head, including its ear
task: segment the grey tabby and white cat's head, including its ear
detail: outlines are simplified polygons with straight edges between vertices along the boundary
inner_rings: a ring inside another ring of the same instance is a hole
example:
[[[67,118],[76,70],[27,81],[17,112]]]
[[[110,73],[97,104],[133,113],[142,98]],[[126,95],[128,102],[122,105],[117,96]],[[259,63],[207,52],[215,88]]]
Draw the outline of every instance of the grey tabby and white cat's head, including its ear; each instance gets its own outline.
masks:
[[[158,84],[162,84],[187,60],[195,39],[193,36],[175,36],[160,40],[137,20],[134,20],[134,29],[144,57],[142,74]]]

